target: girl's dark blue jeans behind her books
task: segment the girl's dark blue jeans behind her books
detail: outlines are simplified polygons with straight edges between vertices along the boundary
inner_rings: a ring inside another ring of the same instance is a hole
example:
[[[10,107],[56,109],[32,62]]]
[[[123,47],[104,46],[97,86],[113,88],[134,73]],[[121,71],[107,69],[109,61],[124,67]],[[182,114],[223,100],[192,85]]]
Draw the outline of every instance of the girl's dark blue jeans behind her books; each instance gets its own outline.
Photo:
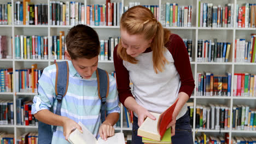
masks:
[[[188,115],[188,111],[185,113],[184,116],[177,119],[175,125],[175,135],[172,136],[172,143],[185,143],[185,144],[193,144],[193,136],[192,130],[190,127],[190,118]],[[132,144],[143,144],[142,137],[137,136],[138,132],[138,118],[133,117],[133,124],[132,124]]]

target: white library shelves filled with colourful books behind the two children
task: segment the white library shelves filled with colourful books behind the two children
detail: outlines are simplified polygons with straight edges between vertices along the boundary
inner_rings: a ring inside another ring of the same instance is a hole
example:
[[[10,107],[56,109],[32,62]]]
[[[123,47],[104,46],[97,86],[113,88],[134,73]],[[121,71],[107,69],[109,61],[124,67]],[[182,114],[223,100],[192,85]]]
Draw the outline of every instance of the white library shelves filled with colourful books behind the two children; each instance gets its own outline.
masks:
[[[45,67],[65,61],[72,26],[97,31],[98,67],[114,75],[119,20],[134,5],[149,8],[187,46],[196,85],[188,101],[194,142],[256,142],[255,0],[0,0],[1,143],[36,143],[36,83]],[[133,115],[120,107],[115,131],[130,143]]]

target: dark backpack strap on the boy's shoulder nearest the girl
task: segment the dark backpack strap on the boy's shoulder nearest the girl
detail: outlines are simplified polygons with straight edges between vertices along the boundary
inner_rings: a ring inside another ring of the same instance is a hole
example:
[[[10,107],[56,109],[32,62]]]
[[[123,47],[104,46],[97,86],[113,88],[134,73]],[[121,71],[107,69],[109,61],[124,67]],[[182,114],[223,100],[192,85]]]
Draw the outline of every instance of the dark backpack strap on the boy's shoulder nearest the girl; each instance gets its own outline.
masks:
[[[96,75],[98,83],[98,97],[101,99],[101,123],[103,123],[107,116],[106,102],[109,92],[109,76],[107,71],[100,68],[97,68]]]

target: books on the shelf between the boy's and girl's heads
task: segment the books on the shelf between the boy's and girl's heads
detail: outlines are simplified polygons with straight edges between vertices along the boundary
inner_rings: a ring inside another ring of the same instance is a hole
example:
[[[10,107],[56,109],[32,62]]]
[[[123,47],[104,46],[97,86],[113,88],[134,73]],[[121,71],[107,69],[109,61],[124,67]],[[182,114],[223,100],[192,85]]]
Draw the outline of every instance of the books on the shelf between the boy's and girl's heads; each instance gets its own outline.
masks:
[[[101,61],[111,61],[111,60],[113,61],[114,48],[115,46],[118,45],[119,39],[120,37],[118,38],[110,37],[108,40],[100,40],[101,52],[99,55],[99,59]]]

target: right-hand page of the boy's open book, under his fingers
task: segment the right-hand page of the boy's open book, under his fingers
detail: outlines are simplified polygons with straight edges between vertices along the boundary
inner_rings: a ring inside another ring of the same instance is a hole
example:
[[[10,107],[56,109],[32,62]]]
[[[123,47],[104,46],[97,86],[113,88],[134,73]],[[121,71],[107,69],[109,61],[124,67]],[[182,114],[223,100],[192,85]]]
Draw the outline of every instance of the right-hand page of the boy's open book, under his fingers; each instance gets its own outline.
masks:
[[[125,144],[124,134],[123,133],[115,133],[114,136],[108,137],[107,141],[98,138],[98,144]]]

